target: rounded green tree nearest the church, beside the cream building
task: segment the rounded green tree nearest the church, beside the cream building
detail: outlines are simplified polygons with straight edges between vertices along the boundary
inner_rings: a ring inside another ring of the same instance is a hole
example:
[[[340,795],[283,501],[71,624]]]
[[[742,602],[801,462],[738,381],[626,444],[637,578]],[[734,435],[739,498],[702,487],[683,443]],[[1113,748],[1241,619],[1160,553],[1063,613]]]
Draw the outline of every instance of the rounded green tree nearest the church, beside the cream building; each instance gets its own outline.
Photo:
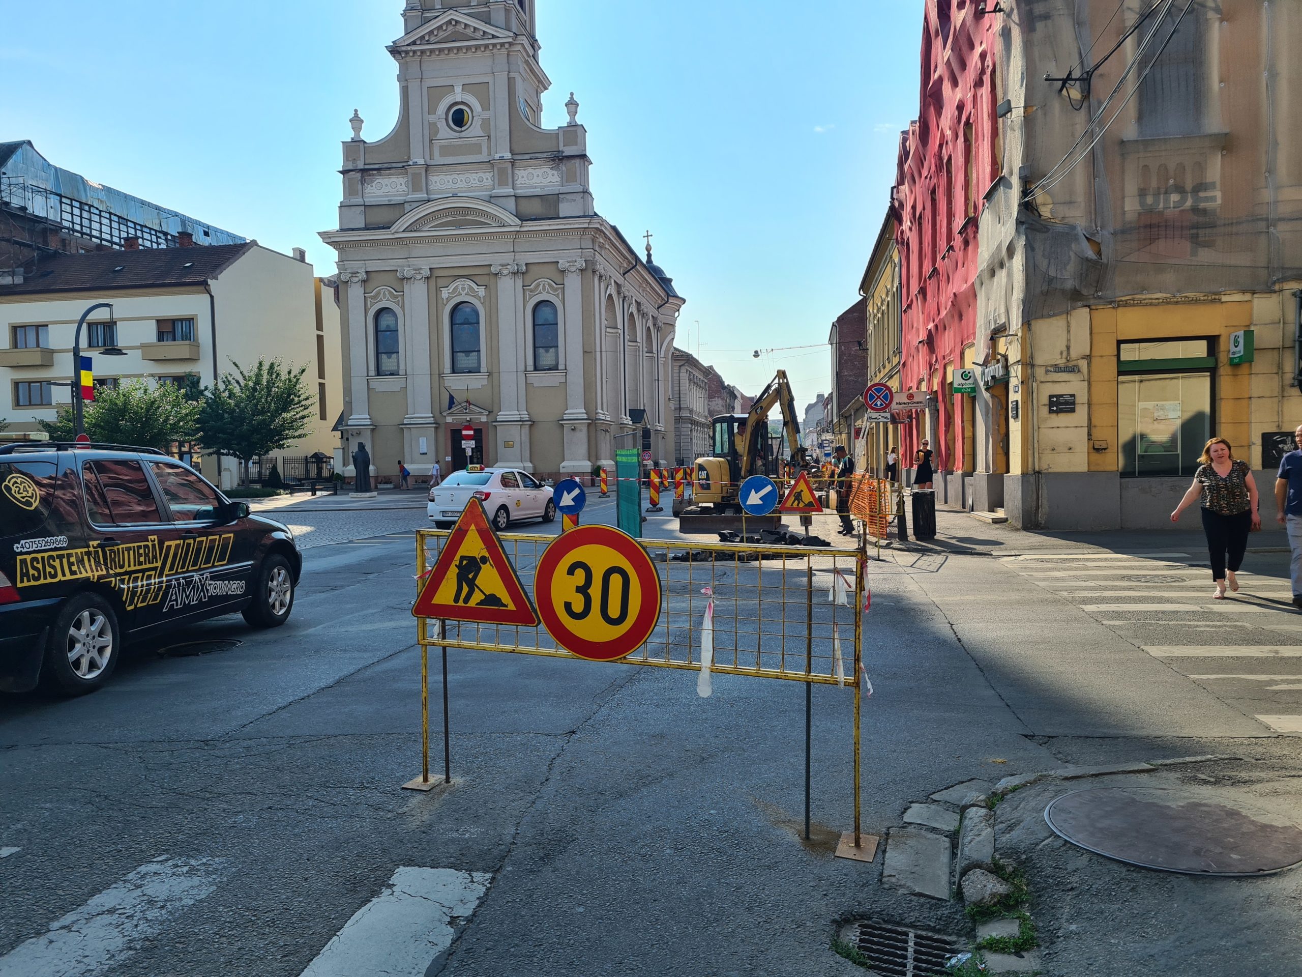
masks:
[[[249,485],[249,461],[288,448],[310,431],[316,396],[303,383],[307,367],[259,360],[251,370],[230,361],[203,399],[199,430],[210,455],[240,460],[240,485]]]

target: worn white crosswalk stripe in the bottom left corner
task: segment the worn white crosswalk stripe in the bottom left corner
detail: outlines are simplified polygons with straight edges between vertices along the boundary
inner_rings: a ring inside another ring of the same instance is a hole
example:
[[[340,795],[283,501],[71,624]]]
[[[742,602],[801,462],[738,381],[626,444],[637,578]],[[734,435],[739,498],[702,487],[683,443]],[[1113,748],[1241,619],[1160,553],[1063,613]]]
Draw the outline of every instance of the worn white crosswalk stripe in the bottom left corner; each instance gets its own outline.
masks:
[[[220,858],[155,858],[0,956],[0,977],[87,977],[132,956],[216,890]]]

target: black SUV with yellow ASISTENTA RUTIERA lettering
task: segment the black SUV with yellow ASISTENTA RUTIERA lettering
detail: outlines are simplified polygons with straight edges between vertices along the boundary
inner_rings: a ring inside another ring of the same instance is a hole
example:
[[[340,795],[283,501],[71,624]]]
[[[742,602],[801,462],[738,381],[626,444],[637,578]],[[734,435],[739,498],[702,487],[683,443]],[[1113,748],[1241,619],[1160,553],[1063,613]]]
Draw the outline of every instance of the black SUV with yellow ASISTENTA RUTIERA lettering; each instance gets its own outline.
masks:
[[[148,448],[0,447],[0,690],[91,692],[129,637],[241,611],[289,619],[289,528]]]

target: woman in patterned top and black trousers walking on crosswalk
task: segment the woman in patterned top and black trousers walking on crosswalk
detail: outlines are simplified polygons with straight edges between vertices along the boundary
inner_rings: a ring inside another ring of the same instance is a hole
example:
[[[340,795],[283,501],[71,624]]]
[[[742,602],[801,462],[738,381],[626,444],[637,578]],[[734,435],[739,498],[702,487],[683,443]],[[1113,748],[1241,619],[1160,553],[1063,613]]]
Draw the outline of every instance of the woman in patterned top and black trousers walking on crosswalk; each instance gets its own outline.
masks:
[[[1238,590],[1234,573],[1243,563],[1247,534],[1262,528],[1256,482],[1253,469],[1246,461],[1234,457],[1234,449],[1224,438],[1207,442],[1198,460],[1202,464],[1194,472],[1194,483],[1170,513],[1170,521],[1178,522],[1180,513],[1193,505],[1195,499],[1202,499],[1203,533],[1207,534],[1212,582],[1216,585],[1212,597],[1224,601],[1226,582],[1230,590]]]

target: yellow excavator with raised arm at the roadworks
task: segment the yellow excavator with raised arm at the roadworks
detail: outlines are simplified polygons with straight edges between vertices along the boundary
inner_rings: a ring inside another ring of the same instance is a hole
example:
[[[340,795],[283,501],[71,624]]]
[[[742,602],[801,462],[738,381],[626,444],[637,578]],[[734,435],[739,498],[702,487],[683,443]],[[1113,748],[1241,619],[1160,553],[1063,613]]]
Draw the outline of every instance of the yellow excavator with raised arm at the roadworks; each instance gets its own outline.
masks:
[[[768,436],[768,412],[775,404],[783,412],[783,434],[789,452],[786,459],[775,456]],[[784,464],[794,469],[807,466],[806,449],[801,446],[801,425],[796,418],[796,399],[785,370],[779,370],[760,391],[750,413],[713,418],[713,456],[697,459],[693,505],[674,515],[740,516],[742,509],[737,490],[747,478],[783,475],[785,473],[780,469]]]

